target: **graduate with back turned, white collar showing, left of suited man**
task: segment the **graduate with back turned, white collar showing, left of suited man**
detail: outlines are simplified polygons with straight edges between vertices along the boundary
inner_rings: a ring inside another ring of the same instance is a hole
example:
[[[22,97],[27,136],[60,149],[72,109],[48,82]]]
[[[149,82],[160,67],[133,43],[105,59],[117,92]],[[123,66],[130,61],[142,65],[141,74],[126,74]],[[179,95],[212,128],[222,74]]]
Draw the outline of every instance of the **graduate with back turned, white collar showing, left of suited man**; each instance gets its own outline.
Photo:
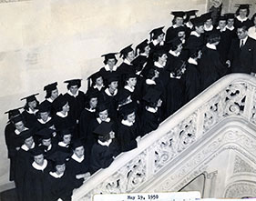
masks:
[[[200,85],[201,90],[217,81],[225,74],[227,67],[221,62],[217,45],[220,43],[220,33],[213,32],[208,37],[208,43],[202,50],[200,59]]]

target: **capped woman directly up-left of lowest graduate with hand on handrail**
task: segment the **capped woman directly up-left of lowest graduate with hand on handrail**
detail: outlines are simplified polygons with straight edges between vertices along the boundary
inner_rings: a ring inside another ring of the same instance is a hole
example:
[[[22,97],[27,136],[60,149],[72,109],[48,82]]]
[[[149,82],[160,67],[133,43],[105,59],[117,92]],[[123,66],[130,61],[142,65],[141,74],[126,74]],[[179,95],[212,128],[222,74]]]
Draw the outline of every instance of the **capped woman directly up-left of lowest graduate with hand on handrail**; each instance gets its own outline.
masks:
[[[60,140],[57,144],[56,150],[65,152],[67,154],[71,153],[71,138],[73,136],[73,129],[70,128],[64,128],[61,131],[59,131]]]

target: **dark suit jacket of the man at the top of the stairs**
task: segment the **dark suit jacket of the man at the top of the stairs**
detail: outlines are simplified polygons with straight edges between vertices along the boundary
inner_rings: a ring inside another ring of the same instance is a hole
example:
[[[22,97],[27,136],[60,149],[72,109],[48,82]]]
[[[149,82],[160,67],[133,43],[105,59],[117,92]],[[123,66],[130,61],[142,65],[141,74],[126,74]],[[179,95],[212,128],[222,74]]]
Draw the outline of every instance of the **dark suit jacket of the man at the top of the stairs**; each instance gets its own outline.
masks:
[[[256,41],[248,36],[246,43],[240,48],[240,40],[233,39],[228,59],[231,62],[232,73],[256,73]]]

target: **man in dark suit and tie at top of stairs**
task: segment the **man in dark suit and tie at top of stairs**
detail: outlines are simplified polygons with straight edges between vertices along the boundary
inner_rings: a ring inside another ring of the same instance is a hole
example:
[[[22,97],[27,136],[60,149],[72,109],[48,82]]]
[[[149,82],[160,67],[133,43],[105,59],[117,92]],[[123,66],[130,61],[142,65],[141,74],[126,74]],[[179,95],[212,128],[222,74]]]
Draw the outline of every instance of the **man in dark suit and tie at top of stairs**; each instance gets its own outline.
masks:
[[[237,38],[230,45],[228,61],[231,73],[256,73],[256,40],[248,36],[248,27],[237,28]]]

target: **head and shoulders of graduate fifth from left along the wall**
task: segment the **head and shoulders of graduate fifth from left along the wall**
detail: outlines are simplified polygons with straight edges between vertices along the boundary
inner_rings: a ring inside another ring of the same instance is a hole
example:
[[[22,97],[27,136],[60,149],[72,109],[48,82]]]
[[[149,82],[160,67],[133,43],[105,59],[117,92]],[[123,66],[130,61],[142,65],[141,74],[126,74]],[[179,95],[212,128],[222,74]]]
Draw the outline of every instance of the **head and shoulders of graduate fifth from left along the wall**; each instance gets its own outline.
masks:
[[[94,73],[93,75],[90,75],[87,78],[88,81],[88,89],[87,89],[87,94],[93,92],[102,92],[105,89],[105,85],[103,83],[103,77],[101,73],[98,71]],[[92,81],[92,84],[91,84]]]

